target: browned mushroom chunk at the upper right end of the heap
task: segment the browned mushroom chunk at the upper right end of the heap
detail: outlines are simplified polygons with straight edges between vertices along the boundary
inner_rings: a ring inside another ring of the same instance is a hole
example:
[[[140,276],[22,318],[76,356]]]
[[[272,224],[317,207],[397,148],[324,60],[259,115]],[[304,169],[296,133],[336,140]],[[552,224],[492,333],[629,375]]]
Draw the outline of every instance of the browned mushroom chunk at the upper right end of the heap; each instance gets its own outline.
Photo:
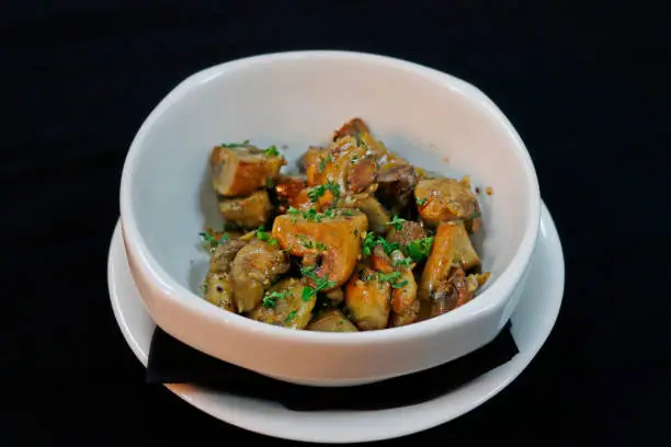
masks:
[[[479,217],[479,206],[470,180],[422,180],[414,188],[419,214],[429,225],[437,226],[452,220],[471,220]],[[479,227],[479,226],[478,226]]]

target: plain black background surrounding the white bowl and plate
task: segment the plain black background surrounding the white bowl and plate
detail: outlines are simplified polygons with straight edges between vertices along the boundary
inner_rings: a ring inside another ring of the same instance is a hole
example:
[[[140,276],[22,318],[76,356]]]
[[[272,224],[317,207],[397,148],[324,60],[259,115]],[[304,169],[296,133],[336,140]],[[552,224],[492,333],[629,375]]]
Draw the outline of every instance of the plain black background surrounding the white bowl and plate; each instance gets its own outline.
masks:
[[[4,5],[0,444],[288,444],[144,382],[106,255],[126,150],[168,91],[211,65],[315,48],[481,88],[525,140],[566,255],[562,309],[528,369],[471,413],[383,444],[669,445],[669,36],[641,1]]]

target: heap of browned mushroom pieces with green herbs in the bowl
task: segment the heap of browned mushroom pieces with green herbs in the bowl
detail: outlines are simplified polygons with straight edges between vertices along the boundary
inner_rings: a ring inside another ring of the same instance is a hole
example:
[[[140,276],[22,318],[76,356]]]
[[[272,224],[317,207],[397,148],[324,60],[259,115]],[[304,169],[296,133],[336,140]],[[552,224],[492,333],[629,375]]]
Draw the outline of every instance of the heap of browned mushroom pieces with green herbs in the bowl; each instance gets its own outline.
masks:
[[[320,332],[412,324],[476,297],[490,273],[470,240],[482,226],[470,180],[412,165],[353,118],[295,174],[275,146],[216,146],[212,187],[225,228],[207,301],[250,319]]]

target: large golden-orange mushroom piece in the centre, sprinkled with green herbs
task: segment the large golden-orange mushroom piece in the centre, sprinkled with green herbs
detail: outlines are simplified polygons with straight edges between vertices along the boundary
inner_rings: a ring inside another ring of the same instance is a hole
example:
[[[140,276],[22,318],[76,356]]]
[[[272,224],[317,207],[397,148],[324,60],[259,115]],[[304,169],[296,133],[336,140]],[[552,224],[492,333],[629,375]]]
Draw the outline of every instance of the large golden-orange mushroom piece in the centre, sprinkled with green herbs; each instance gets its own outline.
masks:
[[[332,214],[281,215],[273,222],[273,238],[294,256],[303,257],[303,265],[329,283],[321,291],[342,286],[361,254],[361,238],[368,221],[363,213],[331,210]],[[314,282],[309,279],[310,285]]]

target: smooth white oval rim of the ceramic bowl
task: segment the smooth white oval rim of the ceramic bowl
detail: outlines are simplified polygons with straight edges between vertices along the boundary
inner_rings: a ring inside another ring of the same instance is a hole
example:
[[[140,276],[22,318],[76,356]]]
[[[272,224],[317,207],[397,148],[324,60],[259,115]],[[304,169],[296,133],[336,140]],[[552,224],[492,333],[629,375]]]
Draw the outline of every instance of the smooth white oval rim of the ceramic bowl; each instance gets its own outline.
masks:
[[[149,133],[150,128],[173,104],[180,102],[191,91],[207,83],[208,81],[214,80],[215,78],[237,70],[243,70],[254,65],[299,59],[312,59],[316,61],[340,59],[349,62],[377,64],[393,70],[410,71],[416,76],[425,78],[428,81],[435,83],[436,85],[442,85],[443,88],[456,91],[457,93],[467,96],[470,101],[479,103],[478,105],[482,107],[484,112],[490,114],[499,122],[500,125],[503,126],[508,137],[513,142],[513,152],[516,154],[519,162],[522,164],[523,170],[526,173],[524,182],[526,190],[530,193],[530,211],[525,217],[526,231],[524,232],[522,241],[516,252],[513,254],[511,262],[497,278],[493,278],[494,280],[492,284],[477,296],[477,299],[474,299],[468,303],[442,316],[399,328],[353,333],[297,331],[254,321],[234,312],[221,311],[221,309],[205,301],[201,296],[179,284],[153,257],[138,229],[132,207],[132,186],[136,173],[137,159],[141,151],[145,137]],[[491,314],[500,306],[505,305],[508,298],[512,295],[514,288],[521,279],[522,274],[526,270],[537,240],[541,222],[539,186],[536,170],[531,156],[522,141],[522,138],[508,117],[482,91],[459,78],[419,65],[417,62],[378,54],[331,49],[292,50],[243,57],[211,66],[182,80],[149,113],[130,144],[122,170],[120,208],[123,236],[126,240],[125,245],[127,250],[132,251],[132,253],[128,253],[128,255],[133,255],[133,257],[138,261],[136,265],[141,271],[140,274],[148,277],[151,285],[155,288],[158,288],[161,295],[164,298],[173,301],[173,303],[184,307],[203,318],[214,320],[223,325],[230,326],[231,329],[241,332],[253,332],[255,335],[262,335],[264,337],[315,345],[341,346],[354,344],[369,345],[388,343],[401,339],[433,336],[445,330],[468,324],[479,317]]]

